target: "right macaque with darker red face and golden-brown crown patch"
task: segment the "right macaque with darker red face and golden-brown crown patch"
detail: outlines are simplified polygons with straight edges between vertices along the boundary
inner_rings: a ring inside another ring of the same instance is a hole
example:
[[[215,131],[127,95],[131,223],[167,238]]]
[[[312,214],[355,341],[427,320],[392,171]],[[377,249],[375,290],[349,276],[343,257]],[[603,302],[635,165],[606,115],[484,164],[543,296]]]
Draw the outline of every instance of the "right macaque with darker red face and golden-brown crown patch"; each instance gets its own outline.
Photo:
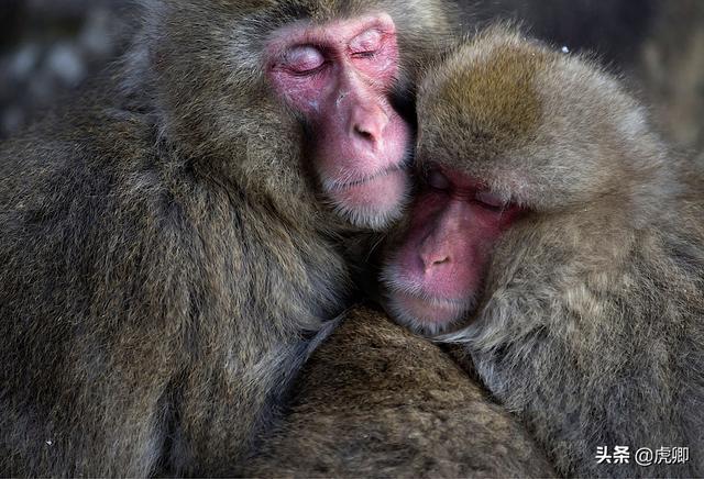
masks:
[[[429,69],[418,120],[389,310],[463,344],[559,474],[703,476],[702,172],[609,74],[505,27]]]

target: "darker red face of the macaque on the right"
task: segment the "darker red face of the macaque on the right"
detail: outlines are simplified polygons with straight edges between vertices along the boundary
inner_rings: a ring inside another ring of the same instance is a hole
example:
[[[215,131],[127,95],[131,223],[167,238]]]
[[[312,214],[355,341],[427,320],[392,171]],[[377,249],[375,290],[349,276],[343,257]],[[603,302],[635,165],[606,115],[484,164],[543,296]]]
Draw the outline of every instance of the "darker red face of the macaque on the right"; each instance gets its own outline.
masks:
[[[396,319],[436,334],[473,309],[494,244],[521,209],[448,168],[433,167],[426,183],[383,279]]]

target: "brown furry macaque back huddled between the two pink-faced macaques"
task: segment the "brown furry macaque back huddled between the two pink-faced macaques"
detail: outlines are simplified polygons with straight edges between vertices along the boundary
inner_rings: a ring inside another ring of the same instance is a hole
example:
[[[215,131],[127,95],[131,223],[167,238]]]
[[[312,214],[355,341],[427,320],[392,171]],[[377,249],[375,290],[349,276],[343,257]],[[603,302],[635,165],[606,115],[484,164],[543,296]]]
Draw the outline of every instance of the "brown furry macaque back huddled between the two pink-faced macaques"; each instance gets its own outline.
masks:
[[[355,308],[314,353],[248,477],[554,477],[440,347]]]

